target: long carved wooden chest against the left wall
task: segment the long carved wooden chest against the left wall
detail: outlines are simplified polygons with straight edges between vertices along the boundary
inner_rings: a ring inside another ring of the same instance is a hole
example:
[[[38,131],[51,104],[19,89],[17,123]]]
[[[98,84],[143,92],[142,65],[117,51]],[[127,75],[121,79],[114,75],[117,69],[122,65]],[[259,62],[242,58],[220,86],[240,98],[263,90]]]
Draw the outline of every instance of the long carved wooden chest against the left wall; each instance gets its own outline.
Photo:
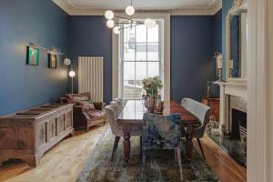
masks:
[[[1,116],[0,162],[19,158],[36,167],[45,151],[73,130],[72,104],[46,104]]]

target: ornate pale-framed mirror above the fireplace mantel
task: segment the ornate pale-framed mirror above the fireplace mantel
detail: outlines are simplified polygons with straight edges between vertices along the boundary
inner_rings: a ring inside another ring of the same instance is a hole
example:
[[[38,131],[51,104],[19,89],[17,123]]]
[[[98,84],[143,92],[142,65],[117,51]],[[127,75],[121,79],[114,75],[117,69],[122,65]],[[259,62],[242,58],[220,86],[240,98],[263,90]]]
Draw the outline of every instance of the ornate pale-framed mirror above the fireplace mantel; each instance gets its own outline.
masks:
[[[247,83],[248,1],[234,0],[226,17],[226,80]]]

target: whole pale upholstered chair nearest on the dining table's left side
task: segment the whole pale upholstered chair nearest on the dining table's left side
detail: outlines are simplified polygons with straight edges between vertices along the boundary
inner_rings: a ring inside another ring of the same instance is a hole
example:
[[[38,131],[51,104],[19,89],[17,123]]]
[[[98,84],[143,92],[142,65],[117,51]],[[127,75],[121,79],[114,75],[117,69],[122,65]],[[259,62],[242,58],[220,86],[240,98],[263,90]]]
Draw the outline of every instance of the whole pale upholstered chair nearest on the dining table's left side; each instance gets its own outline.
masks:
[[[111,127],[112,134],[115,136],[111,161],[113,161],[114,154],[116,152],[116,148],[118,146],[118,142],[121,136],[124,136],[122,125],[117,123],[117,106],[116,105],[109,105],[105,107],[106,116],[109,121],[109,125]],[[130,136],[142,136],[142,130],[139,127],[134,127],[131,130]]]

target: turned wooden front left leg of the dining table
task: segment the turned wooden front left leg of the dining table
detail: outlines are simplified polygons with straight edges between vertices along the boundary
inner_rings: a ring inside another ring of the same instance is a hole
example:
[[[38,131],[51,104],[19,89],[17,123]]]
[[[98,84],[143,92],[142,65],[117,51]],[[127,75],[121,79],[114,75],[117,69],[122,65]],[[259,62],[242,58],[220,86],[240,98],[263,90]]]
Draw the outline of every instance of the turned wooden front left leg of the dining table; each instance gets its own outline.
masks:
[[[131,147],[131,142],[130,142],[131,124],[129,123],[123,124],[123,133],[124,133],[123,153],[124,153],[126,162],[128,162],[130,157],[130,147]]]

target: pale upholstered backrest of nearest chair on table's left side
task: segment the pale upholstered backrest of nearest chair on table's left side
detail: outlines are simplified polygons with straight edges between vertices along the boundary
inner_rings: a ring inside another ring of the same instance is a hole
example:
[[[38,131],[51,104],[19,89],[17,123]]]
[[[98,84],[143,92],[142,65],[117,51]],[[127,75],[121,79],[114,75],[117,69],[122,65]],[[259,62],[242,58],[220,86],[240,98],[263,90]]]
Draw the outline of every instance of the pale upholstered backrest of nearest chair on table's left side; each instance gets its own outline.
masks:
[[[115,106],[115,105],[109,105],[109,106],[105,107],[106,116],[108,118],[109,125],[111,127],[113,135],[122,136],[122,134],[123,134],[122,127],[119,126],[116,122],[116,119],[117,119],[116,110],[117,110],[117,106]]]

